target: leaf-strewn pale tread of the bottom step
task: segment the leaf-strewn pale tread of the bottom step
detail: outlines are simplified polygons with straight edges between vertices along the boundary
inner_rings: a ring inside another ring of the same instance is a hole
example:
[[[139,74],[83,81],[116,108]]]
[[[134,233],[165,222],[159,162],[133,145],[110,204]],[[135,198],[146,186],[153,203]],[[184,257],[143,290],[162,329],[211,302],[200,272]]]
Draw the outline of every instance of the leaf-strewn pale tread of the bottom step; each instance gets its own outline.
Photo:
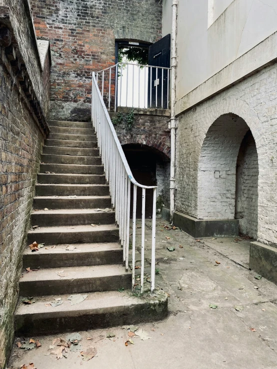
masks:
[[[35,304],[25,305],[19,304],[15,315],[34,315],[38,317],[39,315],[48,316],[60,316],[64,317],[66,312],[70,316],[79,315],[80,312],[87,312],[89,315],[101,314],[104,309],[109,309],[111,311],[116,307],[130,307],[135,305],[144,304],[144,300],[131,296],[131,291],[124,291],[120,293],[118,291],[106,291],[106,292],[92,292],[85,293],[82,295],[87,295],[87,298],[76,305],[70,306],[70,301],[67,298],[71,295],[54,295],[54,296],[38,296],[35,297]],[[55,301],[54,299],[62,298],[63,303],[56,307],[45,306],[45,304]]]

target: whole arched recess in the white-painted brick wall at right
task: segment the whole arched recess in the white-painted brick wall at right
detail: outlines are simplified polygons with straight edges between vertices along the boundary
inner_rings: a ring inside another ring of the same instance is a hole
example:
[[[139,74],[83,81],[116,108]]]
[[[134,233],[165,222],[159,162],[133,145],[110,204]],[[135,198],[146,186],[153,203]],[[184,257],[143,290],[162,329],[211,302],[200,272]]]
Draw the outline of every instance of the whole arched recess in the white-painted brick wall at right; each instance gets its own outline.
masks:
[[[198,219],[239,219],[239,231],[257,235],[258,160],[245,121],[224,114],[209,127],[198,166]]]

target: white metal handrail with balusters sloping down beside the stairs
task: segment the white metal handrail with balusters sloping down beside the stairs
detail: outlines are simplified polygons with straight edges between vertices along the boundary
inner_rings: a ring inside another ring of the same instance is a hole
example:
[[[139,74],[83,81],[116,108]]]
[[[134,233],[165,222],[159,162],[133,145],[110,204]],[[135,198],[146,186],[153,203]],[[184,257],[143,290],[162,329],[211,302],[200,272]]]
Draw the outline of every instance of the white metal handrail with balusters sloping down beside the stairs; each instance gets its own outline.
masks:
[[[123,261],[125,262],[126,271],[128,270],[129,253],[130,189],[131,183],[133,184],[132,290],[135,288],[136,193],[137,187],[142,188],[140,293],[143,293],[144,282],[145,191],[146,189],[153,191],[151,246],[151,291],[153,291],[155,288],[156,186],[143,186],[133,178],[98,88],[94,72],[92,73],[91,121],[97,135],[97,142],[106,180],[109,183],[111,203],[115,209],[115,220],[119,227],[119,238],[121,246],[123,247]]]

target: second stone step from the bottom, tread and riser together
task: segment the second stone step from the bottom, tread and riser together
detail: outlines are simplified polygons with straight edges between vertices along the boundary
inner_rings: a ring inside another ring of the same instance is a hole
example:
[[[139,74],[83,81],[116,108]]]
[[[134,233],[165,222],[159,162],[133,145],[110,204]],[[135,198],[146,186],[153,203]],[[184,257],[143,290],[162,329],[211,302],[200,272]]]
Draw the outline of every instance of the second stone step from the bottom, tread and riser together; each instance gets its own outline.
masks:
[[[116,291],[130,286],[131,273],[125,272],[125,268],[117,264],[48,268],[29,273],[25,271],[19,280],[19,291],[22,296]]]

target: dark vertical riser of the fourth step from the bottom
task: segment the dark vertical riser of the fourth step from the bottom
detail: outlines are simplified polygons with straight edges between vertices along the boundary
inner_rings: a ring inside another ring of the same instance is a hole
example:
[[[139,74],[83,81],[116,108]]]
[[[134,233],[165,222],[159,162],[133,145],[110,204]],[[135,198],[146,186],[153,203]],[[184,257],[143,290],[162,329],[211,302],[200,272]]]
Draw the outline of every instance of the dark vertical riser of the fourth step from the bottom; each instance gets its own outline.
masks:
[[[91,227],[92,228],[92,227]],[[91,231],[91,232],[47,232],[38,233],[35,235],[28,233],[27,242],[28,245],[34,241],[38,243],[44,243],[47,245],[61,245],[61,244],[83,244],[94,242],[118,242],[119,232],[118,229],[110,231]]]

